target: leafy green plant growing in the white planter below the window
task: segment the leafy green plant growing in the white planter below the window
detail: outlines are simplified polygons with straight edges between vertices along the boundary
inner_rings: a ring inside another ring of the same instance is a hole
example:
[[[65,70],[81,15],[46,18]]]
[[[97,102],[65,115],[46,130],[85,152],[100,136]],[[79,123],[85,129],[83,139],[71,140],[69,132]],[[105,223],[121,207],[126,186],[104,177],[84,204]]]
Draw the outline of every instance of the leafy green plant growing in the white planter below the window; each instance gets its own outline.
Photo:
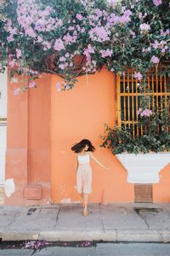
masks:
[[[141,115],[141,113],[143,114]],[[105,136],[101,137],[103,139],[101,147],[110,149],[112,154],[146,154],[170,151],[170,116],[168,109],[157,109],[156,113],[150,115],[148,113],[148,110],[143,112],[141,109],[139,110],[139,121],[137,123],[139,135],[134,135],[132,129],[126,126],[121,128],[116,126],[115,129],[111,129],[109,125],[105,125]]]

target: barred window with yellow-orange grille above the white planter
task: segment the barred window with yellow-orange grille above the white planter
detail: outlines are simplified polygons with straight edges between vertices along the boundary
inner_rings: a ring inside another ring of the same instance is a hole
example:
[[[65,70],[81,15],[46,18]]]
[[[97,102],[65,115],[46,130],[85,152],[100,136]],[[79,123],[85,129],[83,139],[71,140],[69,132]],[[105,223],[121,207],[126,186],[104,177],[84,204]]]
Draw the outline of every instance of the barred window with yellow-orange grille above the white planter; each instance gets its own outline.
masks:
[[[117,77],[117,125],[127,128],[135,135],[142,135],[143,129],[139,127],[139,116],[137,111],[140,108],[141,96],[148,98],[149,108],[152,112],[160,114],[161,110],[168,108],[169,104],[169,84],[166,75],[150,72],[147,74],[144,91],[139,91],[139,80],[133,78],[133,69],[127,69],[126,73]]]

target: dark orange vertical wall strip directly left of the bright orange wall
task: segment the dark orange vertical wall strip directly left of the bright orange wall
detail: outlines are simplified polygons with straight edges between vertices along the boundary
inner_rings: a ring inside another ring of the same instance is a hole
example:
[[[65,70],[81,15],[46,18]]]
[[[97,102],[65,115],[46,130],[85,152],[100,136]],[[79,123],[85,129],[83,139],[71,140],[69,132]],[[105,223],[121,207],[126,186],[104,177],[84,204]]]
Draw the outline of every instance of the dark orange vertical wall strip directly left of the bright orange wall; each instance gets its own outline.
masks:
[[[28,184],[42,185],[42,203],[50,201],[51,77],[43,74],[28,90]]]

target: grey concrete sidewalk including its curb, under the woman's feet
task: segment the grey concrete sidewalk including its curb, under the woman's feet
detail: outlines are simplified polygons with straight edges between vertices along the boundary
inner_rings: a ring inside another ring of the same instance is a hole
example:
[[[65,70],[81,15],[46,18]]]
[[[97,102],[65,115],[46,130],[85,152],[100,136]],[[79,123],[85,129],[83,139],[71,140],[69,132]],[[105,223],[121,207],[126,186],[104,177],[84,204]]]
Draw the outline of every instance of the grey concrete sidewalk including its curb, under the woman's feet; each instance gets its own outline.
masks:
[[[170,241],[170,203],[0,206],[3,241]]]

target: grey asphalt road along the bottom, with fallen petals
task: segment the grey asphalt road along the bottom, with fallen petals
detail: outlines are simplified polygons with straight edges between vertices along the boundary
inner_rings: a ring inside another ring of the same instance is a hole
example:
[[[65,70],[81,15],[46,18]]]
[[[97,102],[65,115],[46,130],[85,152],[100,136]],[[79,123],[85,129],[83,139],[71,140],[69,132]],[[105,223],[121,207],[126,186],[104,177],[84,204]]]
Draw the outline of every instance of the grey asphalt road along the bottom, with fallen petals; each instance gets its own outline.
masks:
[[[96,243],[89,247],[74,245],[42,247],[33,254],[31,249],[8,248],[0,244],[0,256],[57,255],[57,256],[170,256],[170,243]]]

